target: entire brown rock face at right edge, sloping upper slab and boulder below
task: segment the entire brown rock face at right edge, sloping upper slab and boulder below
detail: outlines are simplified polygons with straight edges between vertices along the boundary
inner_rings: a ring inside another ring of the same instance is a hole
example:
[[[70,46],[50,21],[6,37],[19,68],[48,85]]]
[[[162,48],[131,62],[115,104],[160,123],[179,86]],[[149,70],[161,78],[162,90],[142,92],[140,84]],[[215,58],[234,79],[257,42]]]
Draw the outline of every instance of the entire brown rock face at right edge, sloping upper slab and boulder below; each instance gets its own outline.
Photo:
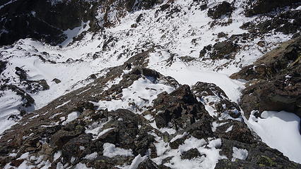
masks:
[[[301,37],[274,49],[254,65],[242,68],[231,77],[252,80],[240,102],[244,114],[251,111],[289,111],[301,115]]]

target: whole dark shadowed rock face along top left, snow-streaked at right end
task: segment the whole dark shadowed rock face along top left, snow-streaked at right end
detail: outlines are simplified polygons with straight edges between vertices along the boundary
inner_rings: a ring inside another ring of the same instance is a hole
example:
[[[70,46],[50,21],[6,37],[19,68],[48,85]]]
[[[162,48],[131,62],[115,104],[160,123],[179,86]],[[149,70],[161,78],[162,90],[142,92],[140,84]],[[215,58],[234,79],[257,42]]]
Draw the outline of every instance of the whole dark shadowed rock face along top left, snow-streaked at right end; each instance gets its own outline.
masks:
[[[1,1],[0,16],[0,45],[12,44],[18,39],[33,38],[49,44],[64,42],[64,30],[75,27],[89,26],[90,31],[100,30],[103,26],[110,26],[110,6],[118,8],[117,16],[123,17],[124,12],[152,8],[161,1]],[[2,7],[3,6],[3,7]],[[97,20],[98,13],[104,13],[102,20]],[[72,15],[70,15],[70,13]],[[89,23],[88,23],[89,21]],[[104,24],[100,24],[103,22]]]

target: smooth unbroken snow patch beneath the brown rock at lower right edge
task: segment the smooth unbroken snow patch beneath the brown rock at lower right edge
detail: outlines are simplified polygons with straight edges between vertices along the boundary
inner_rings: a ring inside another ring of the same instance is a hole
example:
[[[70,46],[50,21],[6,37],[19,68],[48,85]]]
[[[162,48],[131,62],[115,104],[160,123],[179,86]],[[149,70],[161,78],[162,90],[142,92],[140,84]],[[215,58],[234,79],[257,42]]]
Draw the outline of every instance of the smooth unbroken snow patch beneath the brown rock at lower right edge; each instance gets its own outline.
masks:
[[[247,125],[261,137],[262,142],[278,149],[291,161],[301,163],[300,118],[285,111],[264,111],[261,118],[251,115]]]

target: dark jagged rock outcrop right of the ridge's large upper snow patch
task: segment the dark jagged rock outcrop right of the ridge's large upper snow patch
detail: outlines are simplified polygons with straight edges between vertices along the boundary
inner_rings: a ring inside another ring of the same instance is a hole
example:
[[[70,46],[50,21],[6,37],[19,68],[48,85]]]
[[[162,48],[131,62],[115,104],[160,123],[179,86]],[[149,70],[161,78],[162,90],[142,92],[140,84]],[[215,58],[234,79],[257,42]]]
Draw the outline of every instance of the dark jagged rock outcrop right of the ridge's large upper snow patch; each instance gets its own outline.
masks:
[[[159,94],[153,103],[158,127],[184,129],[196,120],[208,116],[204,106],[196,100],[188,85],[183,85],[170,94]]]

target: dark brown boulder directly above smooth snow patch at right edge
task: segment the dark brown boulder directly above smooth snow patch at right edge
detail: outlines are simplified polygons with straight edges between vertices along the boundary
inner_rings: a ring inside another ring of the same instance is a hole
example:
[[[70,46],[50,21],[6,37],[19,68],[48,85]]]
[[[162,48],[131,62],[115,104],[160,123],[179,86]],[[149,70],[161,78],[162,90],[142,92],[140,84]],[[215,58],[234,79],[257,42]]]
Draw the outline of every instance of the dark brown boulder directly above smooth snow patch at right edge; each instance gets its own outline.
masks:
[[[301,75],[278,76],[244,89],[240,105],[249,118],[253,110],[288,111],[301,116]]]

